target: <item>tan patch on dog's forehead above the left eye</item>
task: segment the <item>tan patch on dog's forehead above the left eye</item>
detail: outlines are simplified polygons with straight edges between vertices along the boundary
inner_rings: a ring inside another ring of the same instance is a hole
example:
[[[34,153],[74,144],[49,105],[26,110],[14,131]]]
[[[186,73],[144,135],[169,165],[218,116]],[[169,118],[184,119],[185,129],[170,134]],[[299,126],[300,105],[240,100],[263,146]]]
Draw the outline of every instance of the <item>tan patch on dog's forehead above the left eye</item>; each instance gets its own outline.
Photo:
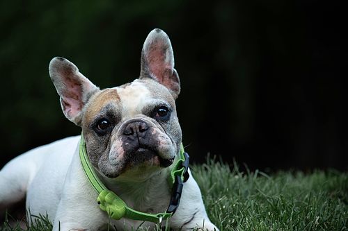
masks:
[[[90,122],[93,118],[100,113],[100,110],[111,101],[120,101],[118,90],[116,88],[103,89],[90,101],[88,108],[85,112],[86,121]]]

